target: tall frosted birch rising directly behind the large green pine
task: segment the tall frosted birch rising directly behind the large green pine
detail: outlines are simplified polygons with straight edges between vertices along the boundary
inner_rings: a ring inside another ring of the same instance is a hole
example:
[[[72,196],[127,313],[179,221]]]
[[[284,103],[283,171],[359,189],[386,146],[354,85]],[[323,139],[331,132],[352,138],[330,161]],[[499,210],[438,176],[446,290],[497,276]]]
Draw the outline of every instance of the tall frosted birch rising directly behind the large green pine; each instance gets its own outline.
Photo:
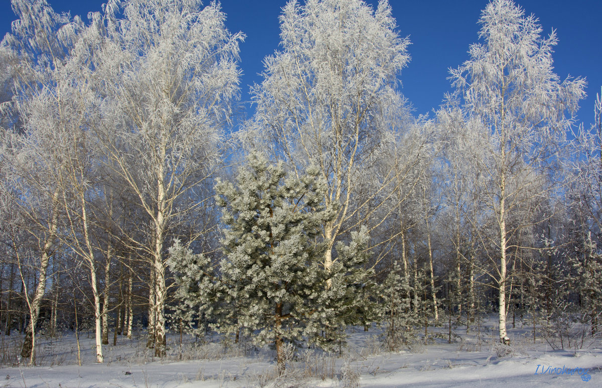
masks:
[[[365,225],[393,192],[390,170],[354,205],[394,119],[404,114],[397,76],[409,61],[409,40],[395,28],[386,1],[376,11],[361,0],[290,1],[281,16],[282,49],[265,60],[264,81],[253,88],[255,126],[247,136],[267,139],[297,177],[313,165],[327,183],[324,201],[336,209],[322,226],[327,269],[337,260],[337,241]]]

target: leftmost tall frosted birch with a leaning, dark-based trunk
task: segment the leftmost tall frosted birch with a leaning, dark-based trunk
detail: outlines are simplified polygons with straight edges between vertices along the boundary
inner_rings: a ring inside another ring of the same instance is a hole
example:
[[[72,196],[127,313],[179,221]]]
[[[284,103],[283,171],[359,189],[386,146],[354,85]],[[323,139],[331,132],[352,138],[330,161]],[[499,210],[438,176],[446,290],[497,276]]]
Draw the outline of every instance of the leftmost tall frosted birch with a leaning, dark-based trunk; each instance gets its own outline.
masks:
[[[63,176],[69,157],[65,148],[73,145],[69,132],[69,85],[64,67],[69,52],[82,29],[81,20],[57,14],[45,0],[14,0],[19,20],[2,40],[5,70],[10,73],[10,101],[2,104],[7,130],[2,133],[8,145],[2,159],[10,164],[7,179],[23,226],[39,241],[36,254],[36,285],[29,303],[29,323],[21,355],[34,356],[36,328],[52,249],[60,226]],[[8,120],[8,122],[6,121]]]

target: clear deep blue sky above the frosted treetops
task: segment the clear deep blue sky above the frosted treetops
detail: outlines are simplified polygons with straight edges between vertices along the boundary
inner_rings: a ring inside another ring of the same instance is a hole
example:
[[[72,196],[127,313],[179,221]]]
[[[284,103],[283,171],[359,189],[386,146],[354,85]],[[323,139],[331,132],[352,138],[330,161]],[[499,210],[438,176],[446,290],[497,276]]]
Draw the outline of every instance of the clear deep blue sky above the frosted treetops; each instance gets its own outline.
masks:
[[[9,0],[0,2],[0,33],[4,36],[15,16]],[[88,11],[101,10],[103,2],[49,0],[55,11],[79,14],[84,21]],[[376,7],[377,0],[367,2]],[[261,82],[258,73],[263,69],[263,59],[278,49],[278,16],[285,3],[285,0],[222,0],[228,28],[247,35],[240,46],[240,67],[244,72],[241,97],[245,101],[250,99],[248,85]],[[468,46],[477,41],[477,20],[488,0],[389,0],[389,3],[397,20],[397,31],[412,41],[409,46],[412,60],[400,77],[402,91],[414,105],[416,114],[426,114],[450,90],[447,69],[468,59]],[[546,35],[556,29],[560,40],[553,56],[556,73],[562,79],[570,75],[588,80],[588,97],[581,104],[579,120],[589,126],[595,95],[602,86],[602,1],[522,0],[518,4],[527,14],[539,18]]]

